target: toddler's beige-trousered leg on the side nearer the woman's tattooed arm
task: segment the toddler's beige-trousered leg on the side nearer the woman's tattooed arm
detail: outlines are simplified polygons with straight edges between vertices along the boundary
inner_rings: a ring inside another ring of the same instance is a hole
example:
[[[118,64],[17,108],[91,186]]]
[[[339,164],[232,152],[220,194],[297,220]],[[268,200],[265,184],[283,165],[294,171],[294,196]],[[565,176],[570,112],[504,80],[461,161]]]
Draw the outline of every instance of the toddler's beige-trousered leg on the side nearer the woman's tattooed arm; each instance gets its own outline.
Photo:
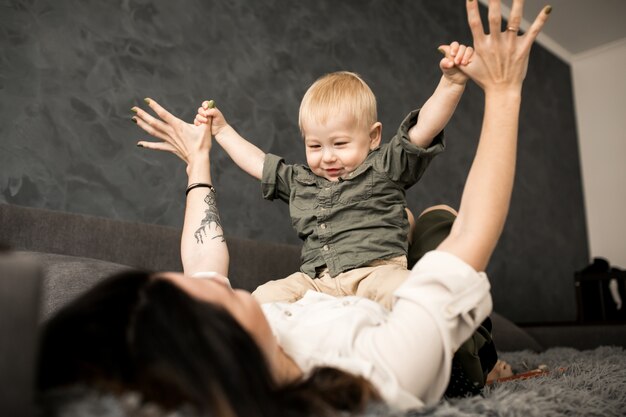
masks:
[[[302,272],[296,272],[286,278],[259,285],[252,296],[260,304],[281,301],[293,303],[301,299],[308,290],[320,291],[314,279]]]

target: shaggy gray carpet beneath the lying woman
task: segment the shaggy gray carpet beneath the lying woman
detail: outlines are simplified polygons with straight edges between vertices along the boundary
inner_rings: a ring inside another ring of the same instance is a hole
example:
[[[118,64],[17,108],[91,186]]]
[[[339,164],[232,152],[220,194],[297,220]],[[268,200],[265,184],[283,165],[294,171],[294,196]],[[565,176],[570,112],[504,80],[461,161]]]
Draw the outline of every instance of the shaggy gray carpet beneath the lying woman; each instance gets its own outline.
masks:
[[[362,417],[418,416],[626,416],[626,351],[620,347],[600,347],[577,351],[553,348],[543,353],[529,351],[501,354],[516,372],[547,365],[566,368],[547,375],[498,383],[485,389],[483,396],[443,401],[435,407],[392,413],[373,406]],[[151,407],[140,407],[132,396],[118,401],[93,394],[73,402],[60,413],[63,417],[163,416]],[[167,417],[189,416],[169,413]]]

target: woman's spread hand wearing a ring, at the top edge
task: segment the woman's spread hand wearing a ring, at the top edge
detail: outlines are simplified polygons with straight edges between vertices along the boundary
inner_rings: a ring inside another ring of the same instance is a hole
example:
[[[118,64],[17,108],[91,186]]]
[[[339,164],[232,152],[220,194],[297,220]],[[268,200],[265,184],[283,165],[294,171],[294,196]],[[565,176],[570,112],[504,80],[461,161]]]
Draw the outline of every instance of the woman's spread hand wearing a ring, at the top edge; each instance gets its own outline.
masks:
[[[526,77],[530,48],[552,11],[550,6],[541,10],[533,24],[523,35],[519,35],[522,21],[523,0],[513,0],[508,27],[502,32],[500,2],[489,1],[489,34],[485,34],[478,12],[477,0],[466,0],[467,18],[475,53],[471,62],[459,67],[474,80],[485,93],[489,91],[520,92]],[[443,48],[446,52],[449,48]]]

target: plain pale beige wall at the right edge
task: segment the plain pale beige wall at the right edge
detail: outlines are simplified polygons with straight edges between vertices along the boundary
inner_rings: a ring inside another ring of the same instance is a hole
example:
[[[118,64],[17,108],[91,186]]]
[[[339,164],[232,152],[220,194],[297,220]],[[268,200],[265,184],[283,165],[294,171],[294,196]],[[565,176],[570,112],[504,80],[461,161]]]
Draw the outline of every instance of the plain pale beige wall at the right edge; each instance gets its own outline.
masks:
[[[590,255],[626,268],[626,40],[571,65]]]

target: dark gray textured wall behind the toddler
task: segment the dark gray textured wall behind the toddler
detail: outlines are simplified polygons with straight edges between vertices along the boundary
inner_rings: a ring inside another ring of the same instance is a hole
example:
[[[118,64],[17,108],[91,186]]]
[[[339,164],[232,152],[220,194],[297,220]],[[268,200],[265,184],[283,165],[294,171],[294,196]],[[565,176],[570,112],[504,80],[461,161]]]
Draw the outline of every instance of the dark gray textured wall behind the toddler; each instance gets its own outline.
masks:
[[[455,0],[1,0],[0,201],[180,226],[183,164],[135,147],[145,135],[130,107],[143,97],[187,120],[213,98],[259,147],[303,162],[297,113],[312,81],[362,74],[389,137],[436,86],[437,46],[469,41],[465,19]],[[482,106],[470,86],[448,150],[408,194],[415,213],[458,205]],[[213,161],[227,233],[297,242],[286,207],[217,146]],[[587,256],[570,68],[535,46],[511,215],[488,270],[495,308],[573,319]]]

